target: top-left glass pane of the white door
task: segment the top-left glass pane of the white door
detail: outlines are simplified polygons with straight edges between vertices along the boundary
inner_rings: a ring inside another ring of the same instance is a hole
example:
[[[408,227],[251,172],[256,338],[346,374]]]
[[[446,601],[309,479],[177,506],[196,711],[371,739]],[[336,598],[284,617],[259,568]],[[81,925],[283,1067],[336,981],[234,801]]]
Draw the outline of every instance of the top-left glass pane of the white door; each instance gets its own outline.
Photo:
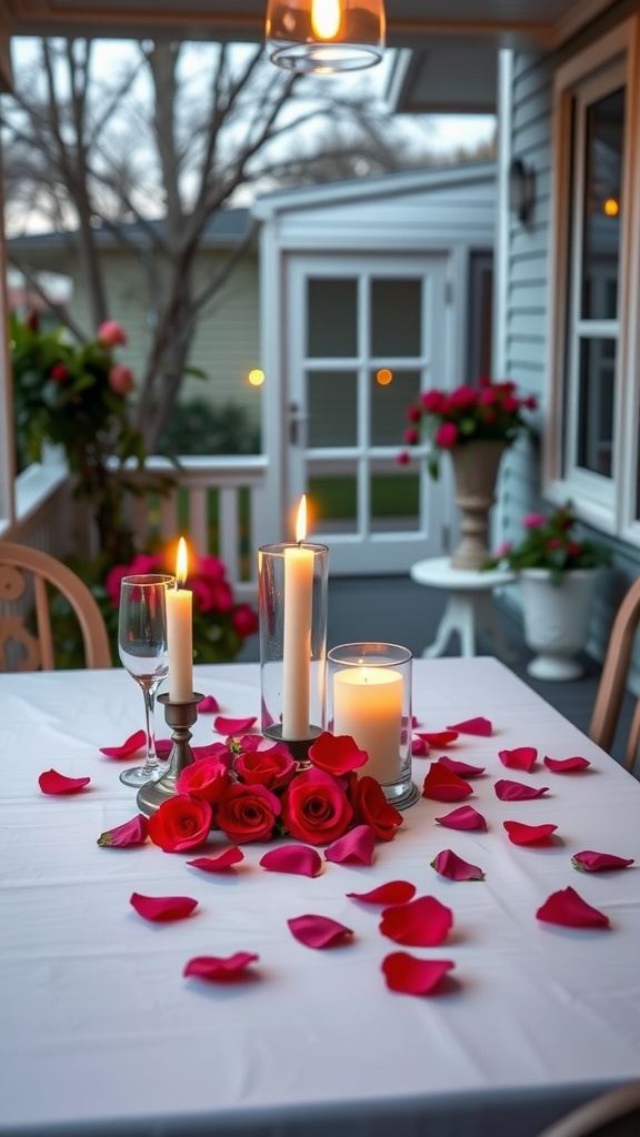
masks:
[[[307,280],[306,355],[320,359],[358,355],[356,280]]]

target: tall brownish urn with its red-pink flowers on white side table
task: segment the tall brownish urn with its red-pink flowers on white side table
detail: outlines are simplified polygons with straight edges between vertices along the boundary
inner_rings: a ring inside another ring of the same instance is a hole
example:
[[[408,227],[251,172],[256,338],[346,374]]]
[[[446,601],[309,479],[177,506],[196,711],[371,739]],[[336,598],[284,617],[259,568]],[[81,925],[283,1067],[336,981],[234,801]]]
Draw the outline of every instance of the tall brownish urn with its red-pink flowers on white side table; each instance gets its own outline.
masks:
[[[534,396],[522,397],[511,380],[487,376],[477,387],[453,391],[432,389],[407,410],[409,446],[427,443],[427,470],[440,476],[443,453],[451,455],[456,504],[461,511],[461,540],[451,557],[454,568],[481,568],[489,557],[489,511],[494,501],[498,467],[507,447],[528,429],[524,412],[538,406]],[[404,450],[402,465],[410,460]]]

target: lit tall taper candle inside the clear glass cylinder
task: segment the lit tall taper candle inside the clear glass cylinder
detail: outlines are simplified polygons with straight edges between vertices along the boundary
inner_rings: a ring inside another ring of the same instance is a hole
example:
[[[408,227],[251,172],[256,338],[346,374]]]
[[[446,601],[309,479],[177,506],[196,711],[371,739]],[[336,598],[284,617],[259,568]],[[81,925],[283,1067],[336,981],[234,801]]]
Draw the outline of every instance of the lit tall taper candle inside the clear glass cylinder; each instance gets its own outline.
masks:
[[[282,644],[282,738],[309,738],[313,549],[306,536],[306,498],[298,508],[297,545],[285,548],[285,628]]]

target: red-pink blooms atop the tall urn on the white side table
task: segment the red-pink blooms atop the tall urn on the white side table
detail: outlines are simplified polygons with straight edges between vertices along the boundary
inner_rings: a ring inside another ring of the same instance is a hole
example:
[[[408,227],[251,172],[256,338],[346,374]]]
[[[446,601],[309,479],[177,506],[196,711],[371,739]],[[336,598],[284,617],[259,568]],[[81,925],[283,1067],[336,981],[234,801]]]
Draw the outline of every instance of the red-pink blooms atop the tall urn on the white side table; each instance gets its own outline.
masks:
[[[522,397],[511,380],[494,382],[481,376],[477,387],[457,387],[453,391],[432,388],[407,409],[410,425],[404,431],[408,446],[427,445],[427,467],[435,480],[444,450],[468,442],[506,442],[510,446],[528,430],[526,412],[535,410],[534,396]],[[399,456],[401,465],[410,460],[408,450]]]

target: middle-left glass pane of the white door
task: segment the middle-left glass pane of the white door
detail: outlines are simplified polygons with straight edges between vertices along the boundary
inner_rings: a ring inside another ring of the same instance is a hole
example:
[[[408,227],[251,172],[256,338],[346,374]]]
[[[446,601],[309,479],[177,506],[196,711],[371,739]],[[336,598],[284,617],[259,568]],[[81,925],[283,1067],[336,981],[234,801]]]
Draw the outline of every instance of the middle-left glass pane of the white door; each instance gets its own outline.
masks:
[[[306,445],[358,445],[358,375],[352,371],[313,371],[306,376]]]

